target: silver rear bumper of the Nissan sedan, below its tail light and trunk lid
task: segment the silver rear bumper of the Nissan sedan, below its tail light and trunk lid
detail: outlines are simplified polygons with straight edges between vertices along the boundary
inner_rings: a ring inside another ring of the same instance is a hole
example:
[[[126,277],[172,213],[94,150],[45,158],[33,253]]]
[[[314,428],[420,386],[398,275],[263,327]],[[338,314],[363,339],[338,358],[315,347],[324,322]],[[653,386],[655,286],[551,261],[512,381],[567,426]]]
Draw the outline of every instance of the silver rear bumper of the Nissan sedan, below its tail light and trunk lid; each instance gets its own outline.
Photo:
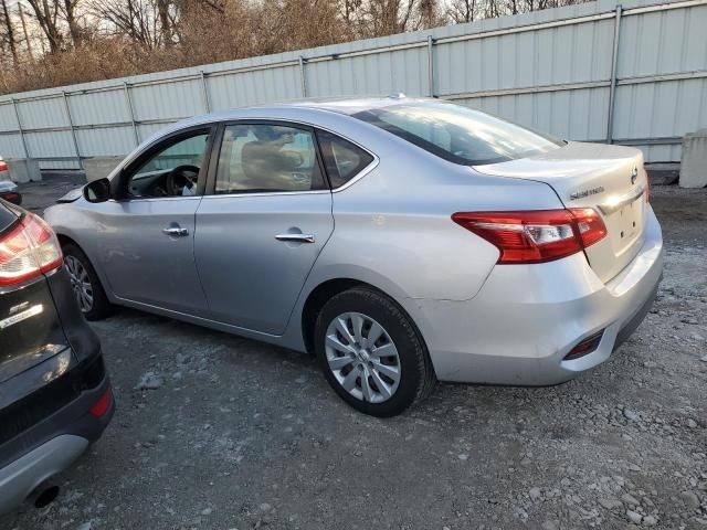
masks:
[[[403,303],[418,322],[441,381],[549,385],[605,361],[641,324],[663,272],[652,210],[639,255],[603,284],[582,254],[538,265],[497,266],[466,301]],[[603,331],[598,348],[563,360]]]

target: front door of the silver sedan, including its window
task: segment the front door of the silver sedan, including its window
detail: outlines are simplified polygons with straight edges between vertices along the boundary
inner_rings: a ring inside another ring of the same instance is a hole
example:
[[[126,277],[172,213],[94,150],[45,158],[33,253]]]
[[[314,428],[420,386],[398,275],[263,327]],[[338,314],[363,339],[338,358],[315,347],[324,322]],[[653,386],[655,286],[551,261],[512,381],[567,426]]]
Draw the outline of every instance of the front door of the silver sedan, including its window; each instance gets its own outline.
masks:
[[[101,204],[99,266],[119,298],[187,314],[207,310],[194,263],[194,215],[213,129],[162,139],[123,171],[116,200]]]

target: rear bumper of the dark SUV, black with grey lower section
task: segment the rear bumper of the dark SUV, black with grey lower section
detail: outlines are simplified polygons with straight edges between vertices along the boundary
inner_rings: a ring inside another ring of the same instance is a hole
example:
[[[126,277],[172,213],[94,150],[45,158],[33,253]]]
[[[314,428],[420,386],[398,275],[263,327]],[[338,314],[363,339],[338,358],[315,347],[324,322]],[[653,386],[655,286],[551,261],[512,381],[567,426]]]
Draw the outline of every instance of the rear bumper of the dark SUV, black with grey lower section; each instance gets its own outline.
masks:
[[[109,406],[96,417],[92,407],[106,393]],[[96,354],[21,400],[17,407],[4,410],[0,418],[0,513],[66,469],[101,437],[114,409],[110,381],[102,356]]]

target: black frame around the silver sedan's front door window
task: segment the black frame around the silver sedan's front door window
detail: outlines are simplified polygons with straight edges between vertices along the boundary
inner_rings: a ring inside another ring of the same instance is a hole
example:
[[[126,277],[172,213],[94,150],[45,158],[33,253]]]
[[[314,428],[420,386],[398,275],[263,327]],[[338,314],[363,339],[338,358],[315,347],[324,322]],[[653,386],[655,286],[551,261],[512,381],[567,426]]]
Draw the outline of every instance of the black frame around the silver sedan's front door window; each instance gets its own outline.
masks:
[[[199,168],[199,177],[197,179],[197,192],[193,195],[184,197],[130,197],[127,193],[127,182],[133,177],[134,171],[139,169],[150,157],[159,152],[166,145],[175,145],[181,139],[187,139],[191,136],[197,136],[199,132],[205,132],[209,135],[209,141],[204,150],[203,162]],[[115,188],[112,190],[117,195],[117,202],[135,202],[135,201],[163,201],[163,200],[179,200],[179,199],[200,199],[204,194],[207,178],[211,166],[213,141],[218,134],[217,123],[204,123],[184,127],[172,132],[169,132],[156,141],[147,146],[136,157],[128,161],[122,169],[118,178],[116,179]],[[112,186],[113,188],[113,186]],[[113,194],[112,193],[112,194]]]

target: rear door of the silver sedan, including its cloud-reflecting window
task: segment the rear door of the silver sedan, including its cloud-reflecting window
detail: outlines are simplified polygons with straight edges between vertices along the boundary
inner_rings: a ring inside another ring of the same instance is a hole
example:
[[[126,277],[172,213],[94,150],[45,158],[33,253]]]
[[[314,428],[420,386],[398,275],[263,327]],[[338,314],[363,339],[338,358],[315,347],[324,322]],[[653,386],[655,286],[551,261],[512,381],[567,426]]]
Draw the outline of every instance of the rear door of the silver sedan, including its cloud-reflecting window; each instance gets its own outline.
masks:
[[[194,237],[209,308],[215,320],[281,335],[334,230],[314,131],[240,121],[218,141]]]

